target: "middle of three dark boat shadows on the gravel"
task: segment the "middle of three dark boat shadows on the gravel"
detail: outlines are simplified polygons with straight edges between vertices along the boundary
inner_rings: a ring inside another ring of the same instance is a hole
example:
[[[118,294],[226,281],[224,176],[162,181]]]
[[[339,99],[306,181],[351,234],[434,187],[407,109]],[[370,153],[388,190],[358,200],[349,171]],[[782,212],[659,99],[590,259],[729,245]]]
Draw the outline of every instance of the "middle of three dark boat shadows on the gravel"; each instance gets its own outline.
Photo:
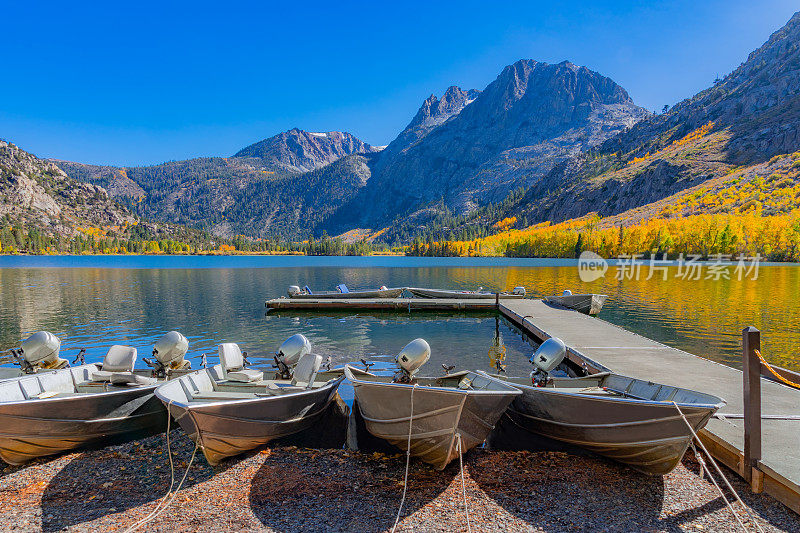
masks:
[[[268,457],[251,482],[250,508],[264,526],[284,533],[392,528],[403,495],[405,454],[299,451],[305,452],[301,461]],[[402,517],[437,499],[457,474],[457,466],[439,472],[412,460]]]

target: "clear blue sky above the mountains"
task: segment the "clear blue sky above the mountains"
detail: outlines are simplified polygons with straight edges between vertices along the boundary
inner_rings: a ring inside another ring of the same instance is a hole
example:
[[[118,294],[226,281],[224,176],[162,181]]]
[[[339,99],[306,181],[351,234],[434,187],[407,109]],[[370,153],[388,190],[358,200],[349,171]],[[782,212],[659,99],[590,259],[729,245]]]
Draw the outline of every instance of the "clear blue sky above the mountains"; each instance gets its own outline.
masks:
[[[282,130],[391,141],[449,85],[568,59],[660,109],[736,68],[796,0],[6,2],[0,138],[40,157],[231,155]],[[658,5],[655,5],[658,4]]]

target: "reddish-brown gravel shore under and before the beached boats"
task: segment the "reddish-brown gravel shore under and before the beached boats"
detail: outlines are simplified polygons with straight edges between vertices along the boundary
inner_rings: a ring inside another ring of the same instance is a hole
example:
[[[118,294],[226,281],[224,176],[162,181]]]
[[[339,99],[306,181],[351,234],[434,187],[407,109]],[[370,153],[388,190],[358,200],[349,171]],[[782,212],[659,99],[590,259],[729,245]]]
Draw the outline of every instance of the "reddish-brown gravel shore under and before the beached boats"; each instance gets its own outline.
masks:
[[[194,444],[171,433],[176,475]],[[282,446],[217,467],[195,459],[172,505],[143,531],[385,531],[394,524],[405,456]],[[464,458],[472,531],[741,531],[693,459],[663,478],[590,455],[488,452]],[[800,517],[728,478],[765,531]],[[164,435],[0,472],[0,530],[124,531],[167,492]],[[752,528],[747,515],[739,510]],[[412,461],[398,531],[466,531],[458,462]]]

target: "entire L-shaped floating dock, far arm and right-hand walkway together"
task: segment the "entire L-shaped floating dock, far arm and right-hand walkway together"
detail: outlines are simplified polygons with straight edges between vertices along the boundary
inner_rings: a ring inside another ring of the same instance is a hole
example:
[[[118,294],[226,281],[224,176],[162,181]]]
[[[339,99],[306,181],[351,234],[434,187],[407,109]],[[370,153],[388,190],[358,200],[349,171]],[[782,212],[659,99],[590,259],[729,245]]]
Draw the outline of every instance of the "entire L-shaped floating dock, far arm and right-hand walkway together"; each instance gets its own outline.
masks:
[[[534,299],[445,300],[427,298],[319,299],[278,298],[270,309],[454,311],[495,309],[525,334],[541,342],[562,339],[568,356],[589,370],[613,370],[714,394],[727,401],[719,417],[701,431],[703,443],[729,468],[800,513],[800,390],[761,379],[761,448],[759,479],[751,479],[744,459],[742,371],[666,346],[602,319]]]

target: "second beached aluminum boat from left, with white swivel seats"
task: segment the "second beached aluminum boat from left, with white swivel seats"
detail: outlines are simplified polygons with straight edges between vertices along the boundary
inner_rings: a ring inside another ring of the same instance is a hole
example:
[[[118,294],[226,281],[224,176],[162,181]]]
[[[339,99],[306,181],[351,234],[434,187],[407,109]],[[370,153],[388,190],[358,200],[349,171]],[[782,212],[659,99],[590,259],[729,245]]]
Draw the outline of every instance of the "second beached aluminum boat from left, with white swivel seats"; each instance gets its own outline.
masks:
[[[300,334],[281,345],[275,379],[248,368],[236,344],[220,344],[219,358],[213,368],[156,389],[158,399],[212,465],[312,427],[344,379],[342,372],[320,372],[322,356],[312,354]]]

